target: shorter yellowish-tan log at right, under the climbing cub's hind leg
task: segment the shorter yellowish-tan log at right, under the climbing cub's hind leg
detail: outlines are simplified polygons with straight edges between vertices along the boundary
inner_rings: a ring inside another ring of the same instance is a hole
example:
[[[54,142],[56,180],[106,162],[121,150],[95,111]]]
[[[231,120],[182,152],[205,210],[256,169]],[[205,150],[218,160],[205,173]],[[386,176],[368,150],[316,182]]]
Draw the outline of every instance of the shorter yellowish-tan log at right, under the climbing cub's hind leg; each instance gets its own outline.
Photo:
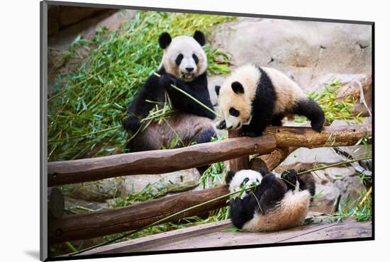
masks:
[[[316,132],[311,127],[268,127],[264,135],[272,135],[277,147],[342,147],[353,146],[364,136],[372,136],[371,125],[324,127]]]

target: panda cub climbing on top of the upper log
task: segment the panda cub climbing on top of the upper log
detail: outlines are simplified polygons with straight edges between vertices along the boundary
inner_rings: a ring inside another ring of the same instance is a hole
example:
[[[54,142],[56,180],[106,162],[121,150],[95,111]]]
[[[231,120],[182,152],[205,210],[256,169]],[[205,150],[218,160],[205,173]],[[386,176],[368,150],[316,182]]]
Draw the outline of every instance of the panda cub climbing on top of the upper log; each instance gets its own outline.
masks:
[[[323,128],[320,106],[277,69],[247,64],[215,89],[225,118],[218,129],[242,127],[243,135],[257,137],[268,125],[282,125],[284,116],[291,114],[306,116],[317,132]]]

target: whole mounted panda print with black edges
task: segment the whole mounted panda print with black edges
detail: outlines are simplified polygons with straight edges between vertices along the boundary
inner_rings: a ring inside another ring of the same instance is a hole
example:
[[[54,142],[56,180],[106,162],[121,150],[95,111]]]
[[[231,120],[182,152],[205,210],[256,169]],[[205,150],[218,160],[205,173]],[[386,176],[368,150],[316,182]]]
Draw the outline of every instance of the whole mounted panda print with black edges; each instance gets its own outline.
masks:
[[[374,239],[374,23],[41,2],[41,260]]]

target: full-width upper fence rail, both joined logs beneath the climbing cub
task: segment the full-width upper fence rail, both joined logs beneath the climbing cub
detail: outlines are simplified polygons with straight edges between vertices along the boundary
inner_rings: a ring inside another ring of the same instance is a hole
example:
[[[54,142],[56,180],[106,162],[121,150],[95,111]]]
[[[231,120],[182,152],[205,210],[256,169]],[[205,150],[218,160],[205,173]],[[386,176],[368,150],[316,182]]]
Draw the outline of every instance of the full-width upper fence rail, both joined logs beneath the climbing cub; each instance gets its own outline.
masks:
[[[371,125],[325,127],[269,127],[262,137],[235,137],[191,147],[116,154],[94,159],[48,163],[48,186],[96,181],[116,176],[167,173],[190,169],[250,154],[265,154],[275,147],[338,147],[355,144],[371,135]]]

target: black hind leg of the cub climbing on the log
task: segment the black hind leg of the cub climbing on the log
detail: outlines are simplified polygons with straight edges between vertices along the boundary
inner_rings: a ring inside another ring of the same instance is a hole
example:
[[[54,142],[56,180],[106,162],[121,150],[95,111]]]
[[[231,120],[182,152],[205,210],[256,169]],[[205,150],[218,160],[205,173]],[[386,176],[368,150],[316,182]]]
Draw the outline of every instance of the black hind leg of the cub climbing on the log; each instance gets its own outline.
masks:
[[[306,118],[311,121],[313,130],[317,132],[322,130],[323,123],[325,122],[325,115],[320,106],[310,98],[296,103],[293,113],[306,116]]]

